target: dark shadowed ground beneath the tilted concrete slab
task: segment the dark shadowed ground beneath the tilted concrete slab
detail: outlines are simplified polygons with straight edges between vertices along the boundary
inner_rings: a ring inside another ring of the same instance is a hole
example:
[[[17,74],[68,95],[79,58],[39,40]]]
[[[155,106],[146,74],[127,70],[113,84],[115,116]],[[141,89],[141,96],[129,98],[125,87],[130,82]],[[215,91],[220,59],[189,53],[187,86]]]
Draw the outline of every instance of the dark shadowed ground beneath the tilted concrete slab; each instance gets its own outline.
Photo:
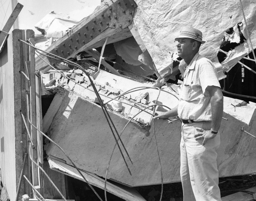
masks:
[[[85,182],[70,178],[76,201],[96,201],[99,198]],[[228,196],[238,191],[243,191],[256,186],[256,174],[223,177],[219,179],[221,197]],[[161,185],[134,187],[147,201],[158,201],[161,195]],[[104,190],[95,188],[102,200],[105,200]],[[255,192],[254,192],[255,193]],[[164,184],[162,201],[182,201],[181,183]],[[70,198],[71,199],[71,198]],[[124,201],[110,193],[107,193],[109,201]]]

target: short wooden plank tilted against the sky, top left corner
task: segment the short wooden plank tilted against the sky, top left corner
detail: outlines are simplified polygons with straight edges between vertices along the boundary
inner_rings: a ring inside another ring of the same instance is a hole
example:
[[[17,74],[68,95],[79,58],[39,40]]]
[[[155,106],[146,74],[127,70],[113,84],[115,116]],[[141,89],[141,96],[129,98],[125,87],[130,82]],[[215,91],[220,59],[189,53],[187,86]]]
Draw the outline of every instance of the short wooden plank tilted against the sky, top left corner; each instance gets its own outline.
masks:
[[[9,34],[7,34],[7,33],[11,30],[12,25],[15,22],[15,20],[17,19],[18,15],[20,14],[20,11],[21,11],[22,7],[23,7],[23,5],[21,5],[20,3],[18,3],[16,5],[14,10],[12,11],[11,16],[7,20],[6,24],[4,25],[3,30],[0,31],[0,52],[3,50],[3,47],[6,43],[7,38],[8,38]]]

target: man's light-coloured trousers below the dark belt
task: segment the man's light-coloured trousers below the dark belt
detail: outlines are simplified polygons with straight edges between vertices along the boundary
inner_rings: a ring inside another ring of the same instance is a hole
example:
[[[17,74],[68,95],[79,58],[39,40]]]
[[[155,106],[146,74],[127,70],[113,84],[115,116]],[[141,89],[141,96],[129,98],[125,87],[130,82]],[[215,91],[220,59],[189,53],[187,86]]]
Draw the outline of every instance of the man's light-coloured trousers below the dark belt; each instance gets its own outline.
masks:
[[[195,140],[196,127],[211,129],[211,122],[183,124],[180,141],[180,177],[184,201],[221,201],[217,152],[220,133],[206,141]]]

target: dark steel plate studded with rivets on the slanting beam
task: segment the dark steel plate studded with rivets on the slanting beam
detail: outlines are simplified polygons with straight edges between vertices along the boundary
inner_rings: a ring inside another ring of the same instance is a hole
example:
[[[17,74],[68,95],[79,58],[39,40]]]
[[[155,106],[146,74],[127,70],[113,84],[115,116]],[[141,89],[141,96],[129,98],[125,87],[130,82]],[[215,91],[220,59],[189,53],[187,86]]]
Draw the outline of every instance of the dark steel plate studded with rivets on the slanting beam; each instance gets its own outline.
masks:
[[[51,53],[63,58],[68,58],[73,52],[83,47],[108,27],[124,29],[131,24],[134,10],[137,4],[133,0],[118,0],[108,6],[98,16],[84,24],[78,31],[69,34],[68,39],[63,41]],[[53,61],[52,63],[59,63]]]

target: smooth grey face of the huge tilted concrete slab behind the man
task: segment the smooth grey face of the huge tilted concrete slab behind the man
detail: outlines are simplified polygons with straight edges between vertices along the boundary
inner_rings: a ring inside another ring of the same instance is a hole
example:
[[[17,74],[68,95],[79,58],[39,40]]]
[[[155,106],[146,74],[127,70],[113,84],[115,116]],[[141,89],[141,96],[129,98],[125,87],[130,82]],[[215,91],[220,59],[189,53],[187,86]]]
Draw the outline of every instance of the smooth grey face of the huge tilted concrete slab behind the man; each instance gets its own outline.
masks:
[[[45,115],[47,118],[45,121],[52,123],[47,123],[48,128],[44,127],[44,129],[55,142],[65,148],[80,169],[105,177],[115,140],[108,129],[101,108],[74,92],[62,90],[60,93],[65,96],[56,94]],[[58,110],[52,109],[55,107],[58,107]],[[116,112],[109,112],[109,115],[120,134],[128,119]],[[255,172],[256,156],[253,154],[256,151],[255,143],[250,135],[240,129],[244,127],[248,132],[255,132],[254,116],[255,112],[247,125],[223,113],[223,117],[228,121],[223,120],[220,127],[221,144],[217,158],[220,177]],[[179,182],[180,121],[169,123],[166,120],[155,120],[154,122],[165,175],[163,182]],[[111,161],[115,166],[110,164],[108,179],[127,186],[160,184],[161,174],[152,121],[149,121],[148,126],[139,126],[131,122],[124,130],[121,139],[133,162],[133,165],[128,163],[132,176],[127,171],[119,150],[116,149]],[[49,156],[67,160],[51,143],[46,146],[46,153]]]

